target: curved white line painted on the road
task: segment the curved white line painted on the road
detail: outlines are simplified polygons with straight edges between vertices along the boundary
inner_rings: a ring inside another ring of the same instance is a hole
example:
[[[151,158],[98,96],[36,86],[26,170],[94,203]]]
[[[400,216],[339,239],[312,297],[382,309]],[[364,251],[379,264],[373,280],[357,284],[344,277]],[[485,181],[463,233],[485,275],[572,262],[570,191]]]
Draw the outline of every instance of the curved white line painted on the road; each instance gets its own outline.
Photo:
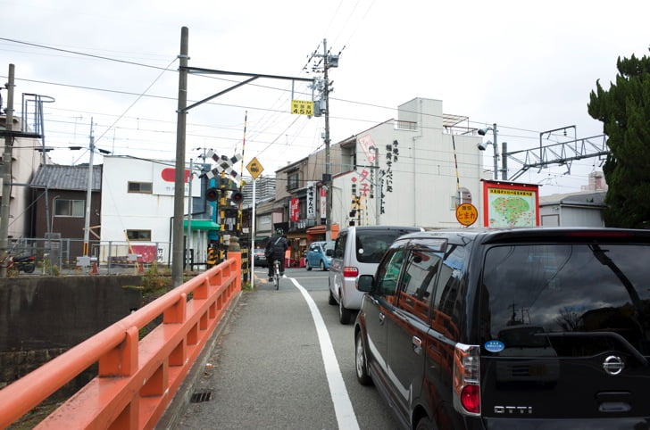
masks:
[[[290,279],[296,285],[298,291],[303,294],[304,301],[307,302],[309,310],[312,312],[313,324],[316,327],[316,334],[321,344],[325,375],[328,377],[329,394],[332,396],[334,413],[337,415],[338,428],[357,429],[359,423],[356,421],[352,402],[347,395],[346,383],[343,381],[341,369],[338,367],[337,355],[334,353],[334,346],[332,346],[332,341],[329,339],[328,328],[325,326],[321,312],[303,285],[300,285],[293,277]]]

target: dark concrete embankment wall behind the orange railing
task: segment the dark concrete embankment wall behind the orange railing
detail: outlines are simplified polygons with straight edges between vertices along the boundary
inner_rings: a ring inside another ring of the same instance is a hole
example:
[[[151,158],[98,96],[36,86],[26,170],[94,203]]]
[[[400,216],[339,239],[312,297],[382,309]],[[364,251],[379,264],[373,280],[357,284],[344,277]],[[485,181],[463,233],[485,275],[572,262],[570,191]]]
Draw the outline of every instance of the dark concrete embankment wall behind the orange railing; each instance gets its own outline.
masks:
[[[0,387],[139,309],[141,279],[0,279]]]

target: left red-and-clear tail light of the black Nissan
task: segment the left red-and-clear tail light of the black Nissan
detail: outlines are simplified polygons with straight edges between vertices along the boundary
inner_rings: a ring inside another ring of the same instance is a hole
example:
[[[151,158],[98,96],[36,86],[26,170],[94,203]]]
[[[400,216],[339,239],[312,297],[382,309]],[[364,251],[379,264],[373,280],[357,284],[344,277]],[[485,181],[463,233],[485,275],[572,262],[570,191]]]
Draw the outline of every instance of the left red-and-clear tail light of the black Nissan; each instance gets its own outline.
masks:
[[[479,346],[457,343],[454,349],[454,409],[480,415]]]

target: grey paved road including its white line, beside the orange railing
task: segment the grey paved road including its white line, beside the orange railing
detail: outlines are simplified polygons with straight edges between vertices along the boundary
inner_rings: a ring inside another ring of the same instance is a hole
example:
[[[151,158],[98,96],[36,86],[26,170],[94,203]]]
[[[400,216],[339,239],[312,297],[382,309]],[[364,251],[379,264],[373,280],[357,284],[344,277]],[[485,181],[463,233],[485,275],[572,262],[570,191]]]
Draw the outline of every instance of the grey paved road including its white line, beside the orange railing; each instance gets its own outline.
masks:
[[[279,291],[256,269],[175,429],[393,429],[374,387],[354,376],[353,327],[328,299],[327,272],[287,269]]]

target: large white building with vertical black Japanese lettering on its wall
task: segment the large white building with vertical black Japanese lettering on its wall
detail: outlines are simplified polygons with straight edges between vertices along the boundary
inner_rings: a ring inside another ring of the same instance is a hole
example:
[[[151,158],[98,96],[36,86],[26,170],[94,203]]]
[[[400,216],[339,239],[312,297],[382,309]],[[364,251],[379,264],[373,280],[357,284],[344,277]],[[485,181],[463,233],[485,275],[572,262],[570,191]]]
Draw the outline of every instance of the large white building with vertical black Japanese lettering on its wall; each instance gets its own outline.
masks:
[[[333,178],[332,222],[458,227],[459,195],[482,213],[482,136],[467,123],[444,114],[440,100],[415,98],[399,106],[397,120],[338,144],[342,173]]]

